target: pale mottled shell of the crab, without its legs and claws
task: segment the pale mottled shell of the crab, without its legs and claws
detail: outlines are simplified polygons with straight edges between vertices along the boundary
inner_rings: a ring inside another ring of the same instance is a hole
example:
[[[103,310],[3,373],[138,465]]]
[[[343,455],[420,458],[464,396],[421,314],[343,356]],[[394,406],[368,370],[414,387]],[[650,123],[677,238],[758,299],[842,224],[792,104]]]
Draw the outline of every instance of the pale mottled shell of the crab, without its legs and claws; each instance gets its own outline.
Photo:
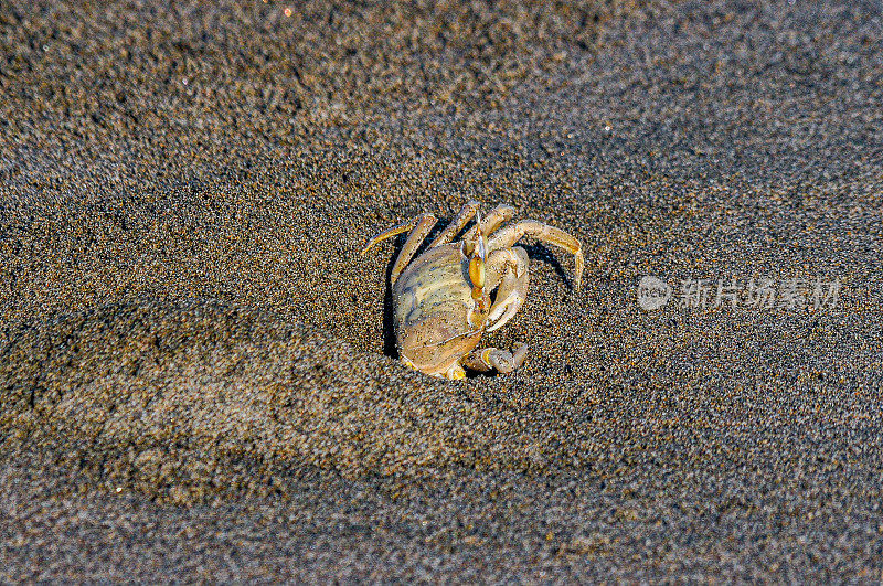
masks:
[[[403,362],[443,375],[471,352],[485,332],[490,296],[472,298],[466,243],[430,248],[393,286],[395,337]]]

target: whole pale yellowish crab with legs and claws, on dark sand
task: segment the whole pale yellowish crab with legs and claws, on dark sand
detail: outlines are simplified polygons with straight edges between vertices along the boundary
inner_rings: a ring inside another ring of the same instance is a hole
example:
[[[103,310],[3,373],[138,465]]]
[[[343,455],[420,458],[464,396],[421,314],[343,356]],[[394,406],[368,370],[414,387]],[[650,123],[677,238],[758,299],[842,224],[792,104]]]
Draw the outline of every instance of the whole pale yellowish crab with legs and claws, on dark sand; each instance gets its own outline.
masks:
[[[574,255],[574,290],[583,278],[579,241],[554,226],[512,220],[515,209],[500,204],[481,217],[479,203],[470,201],[460,213],[414,258],[436,217],[421,214],[381,232],[362,251],[409,231],[391,273],[393,322],[400,360],[423,373],[458,380],[466,370],[509,373],[521,366],[528,347],[513,352],[498,348],[477,350],[485,332],[504,326],[528,295],[528,252],[515,246],[522,237],[564,248]],[[475,217],[459,242],[451,242]],[[491,295],[493,298],[491,299]]]

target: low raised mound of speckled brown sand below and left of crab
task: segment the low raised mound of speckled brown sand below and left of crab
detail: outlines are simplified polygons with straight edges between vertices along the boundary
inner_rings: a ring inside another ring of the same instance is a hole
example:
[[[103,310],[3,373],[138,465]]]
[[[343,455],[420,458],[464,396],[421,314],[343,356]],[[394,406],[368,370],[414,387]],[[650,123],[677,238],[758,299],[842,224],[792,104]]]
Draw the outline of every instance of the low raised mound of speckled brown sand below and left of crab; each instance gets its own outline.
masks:
[[[546,464],[499,397],[215,301],[105,306],[22,328],[2,355],[7,449],[160,499],[273,491],[296,468]]]

